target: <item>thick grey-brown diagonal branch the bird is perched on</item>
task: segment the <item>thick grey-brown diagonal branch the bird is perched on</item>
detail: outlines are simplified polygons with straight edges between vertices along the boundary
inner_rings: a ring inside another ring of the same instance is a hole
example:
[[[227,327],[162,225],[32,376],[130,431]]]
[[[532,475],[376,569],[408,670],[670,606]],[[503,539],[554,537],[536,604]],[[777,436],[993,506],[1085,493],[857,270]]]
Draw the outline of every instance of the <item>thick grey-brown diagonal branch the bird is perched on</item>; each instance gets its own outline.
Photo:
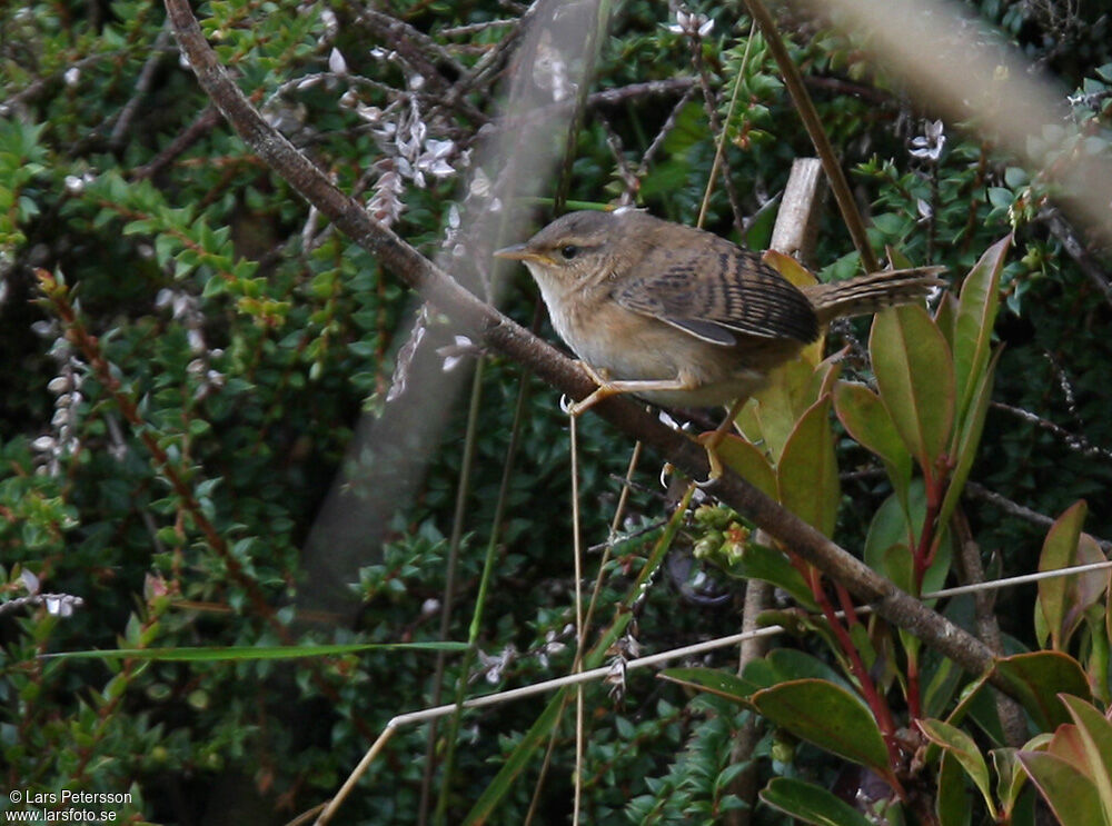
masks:
[[[328,216],[386,269],[451,318],[463,332],[525,365],[573,398],[582,399],[594,390],[594,384],[574,361],[465,290],[447,272],[371,219],[360,203],[334,187],[251,107],[206,42],[188,0],[166,0],[166,8],[175,36],[201,87],[248,147],[309,203]],[[665,427],[637,405],[614,398],[593,409],[632,438],[655,448],[685,474],[693,478],[706,477],[708,466],[704,449],[684,434]],[[707,484],[706,490],[747,515],[855,597],[871,604],[890,623],[915,635],[962,668],[977,675],[991,669],[993,654],[983,643],[896,588],[744,479],[727,472]],[[993,678],[993,681],[1010,690],[1003,680]]]

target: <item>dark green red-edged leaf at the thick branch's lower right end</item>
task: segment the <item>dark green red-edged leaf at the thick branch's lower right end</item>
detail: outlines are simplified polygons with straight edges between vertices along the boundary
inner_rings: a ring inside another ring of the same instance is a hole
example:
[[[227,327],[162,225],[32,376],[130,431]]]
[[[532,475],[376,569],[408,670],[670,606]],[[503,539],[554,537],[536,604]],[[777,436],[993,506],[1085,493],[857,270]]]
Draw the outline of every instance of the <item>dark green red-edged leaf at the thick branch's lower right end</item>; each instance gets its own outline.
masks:
[[[1061,651],[1032,651],[1002,657],[993,669],[1011,684],[1010,694],[1042,732],[1052,732],[1071,720],[1059,698],[1060,694],[1092,700],[1084,670],[1078,660]]]

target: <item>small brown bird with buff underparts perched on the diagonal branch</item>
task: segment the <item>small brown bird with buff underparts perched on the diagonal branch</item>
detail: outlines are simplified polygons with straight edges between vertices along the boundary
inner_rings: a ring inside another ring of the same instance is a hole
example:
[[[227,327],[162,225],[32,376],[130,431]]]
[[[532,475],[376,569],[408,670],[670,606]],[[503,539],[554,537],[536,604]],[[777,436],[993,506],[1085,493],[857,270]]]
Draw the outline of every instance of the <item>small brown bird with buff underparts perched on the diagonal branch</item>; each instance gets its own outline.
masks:
[[[758,390],[836,318],[922,299],[941,268],[874,272],[802,290],[758,253],[635,209],[570,212],[495,256],[520,260],[553,327],[599,389],[665,407]]]

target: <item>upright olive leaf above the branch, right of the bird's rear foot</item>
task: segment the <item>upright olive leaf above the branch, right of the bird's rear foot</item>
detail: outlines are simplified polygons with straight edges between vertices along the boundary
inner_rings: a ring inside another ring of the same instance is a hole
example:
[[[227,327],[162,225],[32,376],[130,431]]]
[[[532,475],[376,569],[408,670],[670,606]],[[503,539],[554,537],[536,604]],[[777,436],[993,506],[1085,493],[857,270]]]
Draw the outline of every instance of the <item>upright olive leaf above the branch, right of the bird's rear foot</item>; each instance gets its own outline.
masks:
[[[830,397],[796,422],[776,467],[780,500],[824,536],[833,536],[842,498],[830,425]]]

